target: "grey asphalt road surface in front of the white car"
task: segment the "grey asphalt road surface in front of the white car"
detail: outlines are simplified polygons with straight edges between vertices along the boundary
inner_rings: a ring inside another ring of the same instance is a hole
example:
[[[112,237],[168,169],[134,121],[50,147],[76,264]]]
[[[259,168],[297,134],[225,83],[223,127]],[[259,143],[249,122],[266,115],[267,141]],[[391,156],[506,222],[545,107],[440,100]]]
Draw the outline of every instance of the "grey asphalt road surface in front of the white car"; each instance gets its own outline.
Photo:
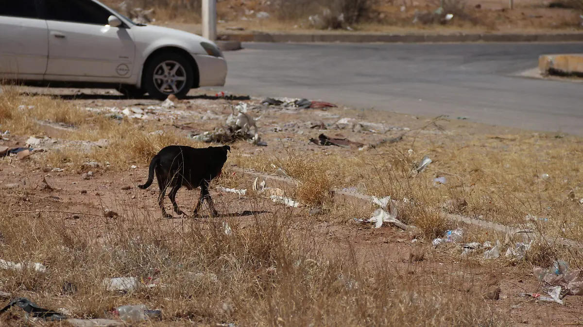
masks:
[[[515,76],[557,44],[244,44],[224,90],[583,135],[583,84]]]

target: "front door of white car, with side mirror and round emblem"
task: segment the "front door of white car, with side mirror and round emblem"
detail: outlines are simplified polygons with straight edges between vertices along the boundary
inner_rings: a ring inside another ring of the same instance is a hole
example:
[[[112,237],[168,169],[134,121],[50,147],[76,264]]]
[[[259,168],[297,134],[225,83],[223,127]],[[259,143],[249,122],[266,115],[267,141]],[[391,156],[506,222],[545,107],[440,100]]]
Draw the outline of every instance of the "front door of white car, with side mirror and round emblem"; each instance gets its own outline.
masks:
[[[46,80],[117,82],[132,75],[135,44],[127,26],[91,0],[41,0],[48,26]]]

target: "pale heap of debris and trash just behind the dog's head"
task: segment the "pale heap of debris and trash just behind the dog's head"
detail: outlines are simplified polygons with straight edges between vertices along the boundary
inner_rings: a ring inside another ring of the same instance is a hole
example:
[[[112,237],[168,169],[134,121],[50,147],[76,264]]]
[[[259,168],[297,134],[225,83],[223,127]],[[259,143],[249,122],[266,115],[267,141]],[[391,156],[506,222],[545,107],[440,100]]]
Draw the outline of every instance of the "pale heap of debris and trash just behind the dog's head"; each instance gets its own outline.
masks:
[[[237,112],[235,112],[235,109]],[[255,120],[247,113],[247,104],[241,103],[233,109],[233,113],[227,118],[225,126],[216,127],[215,130],[206,131],[202,134],[193,133],[190,137],[206,143],[231,143],[236,140],[246,140],[254,145],[266,147],[267,143],[259,137]],[[252,133],[251,129],[253,129]]]

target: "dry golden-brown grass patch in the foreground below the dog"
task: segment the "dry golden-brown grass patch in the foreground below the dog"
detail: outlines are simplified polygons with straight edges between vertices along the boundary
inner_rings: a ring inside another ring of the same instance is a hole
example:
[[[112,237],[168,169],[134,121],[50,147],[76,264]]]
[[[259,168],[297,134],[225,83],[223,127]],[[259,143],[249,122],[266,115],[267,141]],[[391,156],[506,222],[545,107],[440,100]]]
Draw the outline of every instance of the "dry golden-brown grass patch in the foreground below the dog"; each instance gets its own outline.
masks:
[[[412,280],[386,263],[365,267],[349,253],[321,253],[309,230],[290,232],[304,219],[290,210],[230,221],[227,236],[219,221],[175,229],[118,199],[127,209],[115,221],[36,219],[19,214],[15,202],[3,203],[2,258],[47,266],[46,273],[0,271],[3,290],[78,317],[145,303],[178,325],[507,325],[479,296],[456,291],[455,276],[420,273]],[[159,278],[164,286],[122,296],[103,289],[101,280],[119,276]],[[66,282],[75,293],[62,293]]]

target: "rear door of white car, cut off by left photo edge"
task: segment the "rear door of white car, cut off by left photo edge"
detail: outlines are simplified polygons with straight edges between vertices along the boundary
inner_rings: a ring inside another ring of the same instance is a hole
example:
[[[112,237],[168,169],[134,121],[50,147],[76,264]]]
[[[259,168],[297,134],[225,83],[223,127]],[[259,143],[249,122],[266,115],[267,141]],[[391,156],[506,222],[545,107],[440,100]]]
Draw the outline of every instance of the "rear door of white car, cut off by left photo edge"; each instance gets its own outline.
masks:
[[[0,0],[0,79],[41,80],[47,56],[47,22],[35,0]]]

